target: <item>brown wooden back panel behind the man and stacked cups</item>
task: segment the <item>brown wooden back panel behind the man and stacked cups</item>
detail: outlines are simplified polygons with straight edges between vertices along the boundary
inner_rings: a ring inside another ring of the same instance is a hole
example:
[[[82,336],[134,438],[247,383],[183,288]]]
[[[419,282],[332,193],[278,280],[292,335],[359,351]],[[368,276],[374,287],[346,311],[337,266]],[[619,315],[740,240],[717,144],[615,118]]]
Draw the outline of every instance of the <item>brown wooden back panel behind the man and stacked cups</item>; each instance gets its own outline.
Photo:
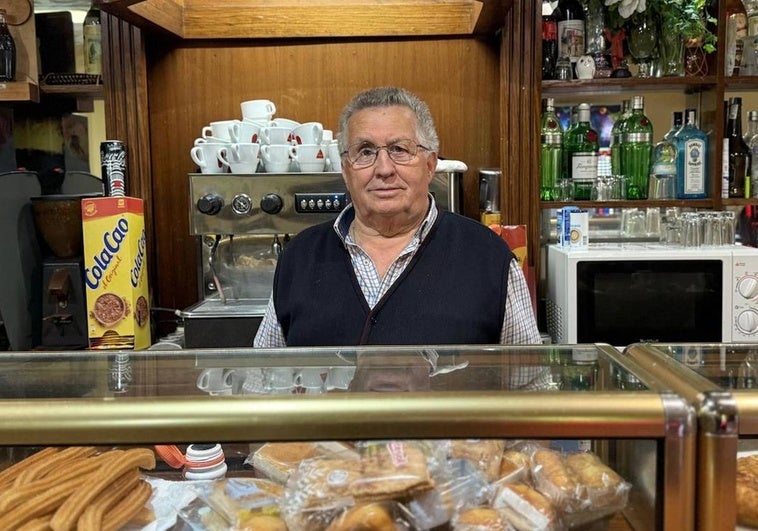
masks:
[[[197,300],[187,173],[200,129],[239,118],[241,101],[267,98],[277,116],[336,130],[358,91],[396,84],[431,108],[441,156],[464,161],[467,215],[478,217],[478,168],[500,161],[500,49],[472,37],[397,41],[155,42],[148,46],[151,184],[157,304]]]

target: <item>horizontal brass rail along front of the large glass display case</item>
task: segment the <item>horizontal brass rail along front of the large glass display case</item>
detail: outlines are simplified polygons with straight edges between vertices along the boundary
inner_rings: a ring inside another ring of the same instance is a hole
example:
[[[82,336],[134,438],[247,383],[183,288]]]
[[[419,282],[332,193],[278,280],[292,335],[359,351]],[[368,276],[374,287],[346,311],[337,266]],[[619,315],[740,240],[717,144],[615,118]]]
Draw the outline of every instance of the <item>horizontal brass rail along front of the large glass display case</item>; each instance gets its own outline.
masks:
[[[664,413],[660,396],[650,393],[2,400],[0,444],[547,438],[566,433],[583,438],[662,438]]]

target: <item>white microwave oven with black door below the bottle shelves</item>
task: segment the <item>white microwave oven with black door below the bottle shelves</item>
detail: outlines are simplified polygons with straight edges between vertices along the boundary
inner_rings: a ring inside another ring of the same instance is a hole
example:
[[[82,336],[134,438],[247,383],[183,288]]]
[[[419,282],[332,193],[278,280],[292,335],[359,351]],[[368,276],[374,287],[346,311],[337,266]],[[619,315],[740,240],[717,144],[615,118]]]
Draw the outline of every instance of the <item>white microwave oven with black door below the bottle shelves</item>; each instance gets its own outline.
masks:
[[[553,342],[758,342],[758,249],[548,246]]]

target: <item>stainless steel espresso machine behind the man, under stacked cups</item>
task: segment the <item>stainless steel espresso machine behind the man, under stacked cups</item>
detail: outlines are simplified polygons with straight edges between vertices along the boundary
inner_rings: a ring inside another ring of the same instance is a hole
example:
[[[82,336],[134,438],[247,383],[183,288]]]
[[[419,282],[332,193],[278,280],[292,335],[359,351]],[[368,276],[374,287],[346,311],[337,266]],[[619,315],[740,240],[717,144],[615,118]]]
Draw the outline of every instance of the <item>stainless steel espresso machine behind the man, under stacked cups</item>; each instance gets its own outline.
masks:
[[[460,212],[462,173],[437,172],[437,204]],[[249,347],[276,260],[300,231],[333,220],[350,197],[341,173],[189,174],[198,302],[178,312],[187,348]]]

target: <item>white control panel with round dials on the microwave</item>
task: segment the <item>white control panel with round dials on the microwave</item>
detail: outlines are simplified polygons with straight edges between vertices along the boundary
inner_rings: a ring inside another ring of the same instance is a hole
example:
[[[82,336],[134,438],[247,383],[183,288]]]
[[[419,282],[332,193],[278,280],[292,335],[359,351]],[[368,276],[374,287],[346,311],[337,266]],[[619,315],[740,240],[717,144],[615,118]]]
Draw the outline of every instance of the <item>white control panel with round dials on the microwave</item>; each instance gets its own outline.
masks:
[[[735,250],[732,260],[733,342],[758,342],[758,249]]]

